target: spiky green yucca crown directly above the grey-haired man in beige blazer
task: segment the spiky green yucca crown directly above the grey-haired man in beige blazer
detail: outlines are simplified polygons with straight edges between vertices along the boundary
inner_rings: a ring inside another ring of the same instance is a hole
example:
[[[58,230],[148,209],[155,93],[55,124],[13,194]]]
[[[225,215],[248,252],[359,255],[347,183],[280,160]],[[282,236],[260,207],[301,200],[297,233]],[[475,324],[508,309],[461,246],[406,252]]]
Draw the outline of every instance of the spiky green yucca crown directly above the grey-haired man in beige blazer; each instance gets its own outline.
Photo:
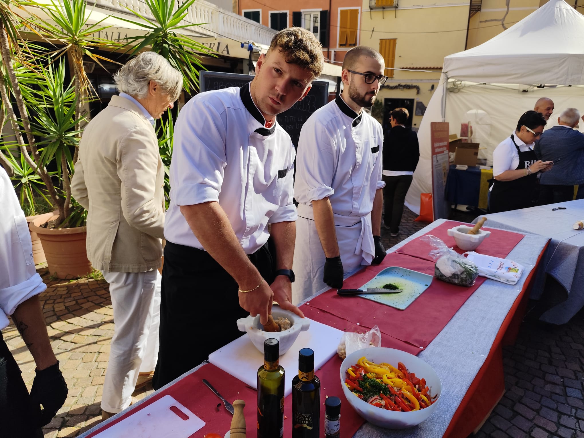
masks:
[[[143,36],[128,37],[125,46],[131,47],[128,49],[130,54],[139,53],[144,48],[150,46],[150,50],[161,54],[170,62],[172,67],[176,68],[183,75],[183,88],[187,93],[192,93],[193,89],[199,86],[199,70],[205,69],[203,64],[196,55],[196,52],[206,53],[215,56],[208,47],[190,39],[187,36],[176,33],[178,29],[186,27],[199,26],[204,23],[188,23],[183,22],[190,6],[195,0],[187,0],[175,11],[175,0],[143,0],[148,5],[155,21],[149,20],[138,12],[127,8],[138,18],[141,18],[145,23],[135,22],[126,18],[116,17],[128,23],[133,23],[137,26],[146,27],[149,32]]]

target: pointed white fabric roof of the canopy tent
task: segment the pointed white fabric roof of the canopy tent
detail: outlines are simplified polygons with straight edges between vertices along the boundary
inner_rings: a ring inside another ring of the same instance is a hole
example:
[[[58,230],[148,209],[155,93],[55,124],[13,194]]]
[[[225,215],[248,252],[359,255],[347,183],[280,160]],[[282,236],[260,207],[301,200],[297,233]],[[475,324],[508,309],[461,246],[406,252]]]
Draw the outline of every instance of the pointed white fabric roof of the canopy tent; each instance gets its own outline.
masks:
[[[444,58],[451,79],[486,84],[584,84],[584,16],[550,0],[498,36]]]

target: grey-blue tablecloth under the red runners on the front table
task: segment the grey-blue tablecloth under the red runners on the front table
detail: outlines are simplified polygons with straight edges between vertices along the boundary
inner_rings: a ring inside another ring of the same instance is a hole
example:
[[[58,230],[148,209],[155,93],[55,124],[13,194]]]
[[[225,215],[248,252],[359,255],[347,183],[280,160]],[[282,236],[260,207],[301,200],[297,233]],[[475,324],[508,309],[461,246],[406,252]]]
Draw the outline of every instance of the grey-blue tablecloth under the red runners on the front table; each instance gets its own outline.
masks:
[[[390,248],[388,252],[393,252],[407,242],[426,234],[434,227],[443,224],[444,221],[444,219],[434,221],[416,234]],[[366,423],[354,434],[353,438],[438,438],[444,435],[454,412],[458,409],[460,402],[489,354],[503,320],[522,290],[524,281],[537,262],[537,258],[543,251],[547,240],[547,238],[536,235],[526,235],[509,254],[509,258],[525,266],[526,269],[522,279],[515,286],[499,283],[499,281],[486,280],[468,298],[439,335],[426,347],[426,350],[418,355],[436,370],[442,381],[442,394],[440,395],[440,404],[436,407],[436,412],[425,422],[406,430],[380,429]],[[383,339],[381,346],[383,346]],[[188,371],[158,391],[177,383],[198,368]],[[154,394],[157,394],[158,391],[154,392]],[[139,406],[154,394],[142,399],[132,407]],[[196,412],[194,413],[196,414]],[[86,437],[93,430],[99,429],[116,418],[117,415],[107,419],[106,422],[85,432],[79,438]]]

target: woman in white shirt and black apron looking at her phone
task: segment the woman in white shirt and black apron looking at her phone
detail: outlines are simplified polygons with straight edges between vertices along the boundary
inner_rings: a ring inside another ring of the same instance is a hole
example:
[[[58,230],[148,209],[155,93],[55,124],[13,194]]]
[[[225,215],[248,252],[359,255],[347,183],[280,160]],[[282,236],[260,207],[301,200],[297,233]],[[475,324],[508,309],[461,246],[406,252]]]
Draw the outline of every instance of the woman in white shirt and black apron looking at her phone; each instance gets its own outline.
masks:
[[[538,160],[533,150],[545,127],[541,113],[527,111],[517,129],[493,152],[493,176],[489,213],[533,207],[537,201],[537,172],[551,169],[551,162]]]

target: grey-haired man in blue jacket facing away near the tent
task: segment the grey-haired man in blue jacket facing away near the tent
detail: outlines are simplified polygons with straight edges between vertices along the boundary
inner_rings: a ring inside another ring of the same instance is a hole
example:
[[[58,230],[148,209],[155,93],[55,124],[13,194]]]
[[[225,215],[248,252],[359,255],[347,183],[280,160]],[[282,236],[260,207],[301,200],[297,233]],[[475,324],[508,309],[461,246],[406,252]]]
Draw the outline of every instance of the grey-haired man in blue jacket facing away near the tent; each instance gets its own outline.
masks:
[[[584,134],[574,129],[579,121],[577,109],[565,109],[558,117],[559,126],[545,131],[536,143],[537,158],[554,163],[541,175],[540,205],[571,201],[574,186],[584,184]]]

